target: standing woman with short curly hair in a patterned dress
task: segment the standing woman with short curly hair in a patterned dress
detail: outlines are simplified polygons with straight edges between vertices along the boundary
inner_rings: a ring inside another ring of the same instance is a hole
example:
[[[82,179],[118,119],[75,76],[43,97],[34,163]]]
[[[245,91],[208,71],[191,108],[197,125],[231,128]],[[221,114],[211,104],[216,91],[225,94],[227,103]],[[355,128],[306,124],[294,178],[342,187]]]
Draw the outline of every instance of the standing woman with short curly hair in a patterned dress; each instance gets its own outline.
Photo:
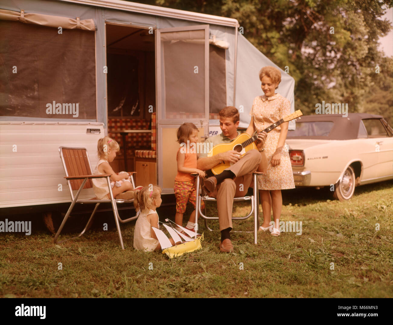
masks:
[[[265,66],[259,71],[259,79],[264,95],[255,97],[253,101],[251,121],[246,131],[250,136],[255,130],[260,132],[290,114],[288,99],[275,93],[281,82],[281,72],[272,66]],[[288,123],[285,122],[269,132],[264,144],[268,167],[264,177],[258,178],[263,211],[263,224],[259,231],[267,231],[270,228],[274,236],[280,235],[279,219],[283,205],[281,190],[295,188],[288,145],[285,143]],[[269,226],[272,208],[273,227]]]

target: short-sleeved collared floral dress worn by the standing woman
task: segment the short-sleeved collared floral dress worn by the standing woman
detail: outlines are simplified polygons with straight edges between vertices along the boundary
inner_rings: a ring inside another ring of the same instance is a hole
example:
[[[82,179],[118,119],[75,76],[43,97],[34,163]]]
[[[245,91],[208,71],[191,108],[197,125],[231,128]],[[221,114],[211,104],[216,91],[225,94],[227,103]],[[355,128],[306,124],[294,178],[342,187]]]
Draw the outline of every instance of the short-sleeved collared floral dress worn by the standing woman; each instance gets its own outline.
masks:
[[[273,123],[290,114],[290,102],[280,94],[254,98],[250,115],[254,118],[255,129],[258,132],[266,129]],[[289,158],[288,145],[284,143],[281,151],[280,163],[272,166],[272,158],[277,148],[281,126],[268,133],[264,145],[268,169],[264,176],[258,177],[258,188],[264,190],[293,189],[295,188],[292,165]]]

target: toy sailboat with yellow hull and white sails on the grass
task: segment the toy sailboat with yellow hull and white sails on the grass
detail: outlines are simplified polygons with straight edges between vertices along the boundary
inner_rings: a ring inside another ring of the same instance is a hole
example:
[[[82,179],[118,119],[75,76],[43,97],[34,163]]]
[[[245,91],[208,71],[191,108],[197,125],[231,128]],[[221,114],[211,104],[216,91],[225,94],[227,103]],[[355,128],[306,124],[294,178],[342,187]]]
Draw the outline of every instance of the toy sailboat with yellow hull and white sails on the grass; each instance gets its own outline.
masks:
[[[165,219],[165,221],[171,221],[168,219]],[[158,228],[153,228],[154,233],[157,236],[158,241],[160,242],[161,248],[162,248],[162,253],[167,254],[171,259],[176,256],[181,256],[186,252],[193,252],[195,250],[199,250],[202,248],[202,245],[200,244],[201,241],[203,241],[203,234],[201,237],[196,237],[199,235],[195,231],[188,230],[187,228],[183,228],[181,226],[178,226],[181,228],[187,235],[190,237],[182,234],[180,231],[177,231],[173,227],[167,226],[167,224],[163,223],[163,226],[165,229],[169,232],[169,235],[173,238],[173,241],[175,243],[180,242],[180,244],[171,244],[171,241],[169,241],[169,238],[165,233],[158,229]],[[180,238],[182,237],[183,240]],[[195,237],[194,239],[191,237]]]

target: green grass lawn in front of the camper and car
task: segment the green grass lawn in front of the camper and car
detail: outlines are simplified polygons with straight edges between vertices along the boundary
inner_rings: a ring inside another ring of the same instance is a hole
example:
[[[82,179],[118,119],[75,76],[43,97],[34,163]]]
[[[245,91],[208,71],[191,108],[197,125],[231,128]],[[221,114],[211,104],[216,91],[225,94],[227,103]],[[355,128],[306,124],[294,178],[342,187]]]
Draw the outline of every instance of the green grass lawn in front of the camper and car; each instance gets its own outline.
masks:
[[[121,226],[125,250],[113,228],[60,245],[45,230],[1,233],[0,296],[393,297],[392,185],[358,187],[343,203],[330,200],[325,189],[284,191],[281,220],[301,221],[302,234],[259,233],[255,246],[252,233],[232,232],[230,254],[219,252],[218,222],[211,223],[213,232],[200,222],[202,250],[173,260],[134,250],[135,222]],[[208,211],[217,213],[213,205]],[[233,211],[249,210],[236,204]],[[169,217],[162,214],[161,220]],[[253,220],[234,227],[252,230]]]

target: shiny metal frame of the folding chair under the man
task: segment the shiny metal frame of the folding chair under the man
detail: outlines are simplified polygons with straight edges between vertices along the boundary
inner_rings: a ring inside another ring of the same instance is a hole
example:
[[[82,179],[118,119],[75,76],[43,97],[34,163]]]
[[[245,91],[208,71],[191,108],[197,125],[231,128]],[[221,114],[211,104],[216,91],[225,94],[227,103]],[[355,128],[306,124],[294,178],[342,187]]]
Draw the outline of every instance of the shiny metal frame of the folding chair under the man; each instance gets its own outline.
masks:
[[[253,182],[254,184],[258,184],[257,182],[257,176],[261,176],[263,173],[261,172],[254,172],[253,173]],[[219,217],[208,217],[206,216],[200,206],[202,200],[204,201],[216,201],[216,198],[212,198],[207,195],[200,195],[199,194],[199,189],[201,188],[200,186],[200,177],[196,177],[196,202],[195,202],[195,224],[196,228],[198,228],[198,217],[201,216],[203,219],[205,219],[205,226],[208,230],[213,231],[212,229],[209,228],[208,226],[208,220],[219,220]],[[253,189],[253,195],[250,196],[242,196],[242,197],[237,197],[233,198],[233,202],[239,202],[239,201],[251,201],[251,211],[246,215],[245,217],[232,217],[232,220],[245,220],[248,219],[251,215],[254,215],[254,230],[253,231],[236,231],[236,232],[253,232],[254,233],[254,244],[257,244],[257,232],[259,228],[259,192],[258,192],[258,186],[254,185]],[[206,209],[206,207],[205,207]],[[205,212],[206,213],[206,212]],[[198,229],[196,229],[198,230]]]

